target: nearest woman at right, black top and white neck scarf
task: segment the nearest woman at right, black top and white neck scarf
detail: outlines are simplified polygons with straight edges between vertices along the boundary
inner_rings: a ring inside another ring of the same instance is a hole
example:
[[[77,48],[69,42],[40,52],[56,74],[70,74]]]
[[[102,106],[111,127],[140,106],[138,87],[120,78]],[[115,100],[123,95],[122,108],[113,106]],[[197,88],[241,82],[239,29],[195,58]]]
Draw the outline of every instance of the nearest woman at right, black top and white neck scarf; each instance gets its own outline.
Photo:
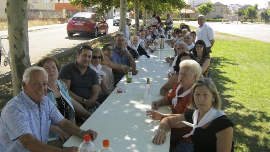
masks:
[[[191,103],[184,114],[163,119],[152,142],[162,144],[171,128],[192,127],[183,137],[190,137],[194,152],[233,151],[233,126],[231,120],[220,110],[221,99],[210,78],[195,82],[191,90]]]

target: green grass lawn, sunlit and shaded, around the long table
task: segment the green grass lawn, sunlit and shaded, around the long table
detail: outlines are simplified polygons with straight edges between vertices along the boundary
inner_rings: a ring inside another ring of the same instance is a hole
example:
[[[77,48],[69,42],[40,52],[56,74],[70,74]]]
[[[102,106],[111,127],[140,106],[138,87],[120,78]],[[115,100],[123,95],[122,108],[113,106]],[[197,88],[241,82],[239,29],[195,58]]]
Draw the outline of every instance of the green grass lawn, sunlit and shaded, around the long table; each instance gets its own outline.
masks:
[[[179,24],[174,25],[179,27]],[[103,39],[93,47],[113,43],[113,38]],[[235,123],[235,152],[270,149],[269,48],[270,43],[215,32],[213,53],[210,54],[211,78],[220,92],[222,110]],[[64,65],[75,58],[73,53],[60,59],[60,63]],[[11,83],[0,86],[0,112],[12,98],[11,91]]]

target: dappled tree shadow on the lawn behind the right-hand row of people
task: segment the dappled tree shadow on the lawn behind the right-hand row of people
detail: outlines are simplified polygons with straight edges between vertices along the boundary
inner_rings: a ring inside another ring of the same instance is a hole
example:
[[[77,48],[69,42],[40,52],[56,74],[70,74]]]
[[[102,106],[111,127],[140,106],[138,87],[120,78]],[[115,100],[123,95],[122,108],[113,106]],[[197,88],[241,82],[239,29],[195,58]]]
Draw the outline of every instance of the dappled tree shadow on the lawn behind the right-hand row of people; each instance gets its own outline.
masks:
[[[246,109],[242,103],[230,100],[234,98],[234,96],[227,93],[231,88],[227,88],[226,84],[237,84],[237,82],[233,81],[233,78],[224,76],[224,74],[228,72],[221,71],[219,68],[222,66],[237,65],[238,64],[235,64],[234,61],[224,57],[211,57],[211,78],[221,95],[221,109],[226,110],[227,108],[233,108],[234,110],[227,111],[226,115],[228,115],[235,125],[240,125],[240,127],[234,127],[234,149],[235,151],[268,151],[270,149],[270,141],[268,138],[263,138],[263,140],[261,140],[259,135],[247,134],[244,130],[249,129],[251,132],[254,131],[264,134],[264,128],[254,123],[269,122],[270,117],[267,116],[265,111],[259,111],[256,109],[251,111]],[[269,133],[269,130],[266,131],[266,134]],[[259,141],[263,143],[259,143]],[[241,145],[245,145],[248,150],[243,149]]]

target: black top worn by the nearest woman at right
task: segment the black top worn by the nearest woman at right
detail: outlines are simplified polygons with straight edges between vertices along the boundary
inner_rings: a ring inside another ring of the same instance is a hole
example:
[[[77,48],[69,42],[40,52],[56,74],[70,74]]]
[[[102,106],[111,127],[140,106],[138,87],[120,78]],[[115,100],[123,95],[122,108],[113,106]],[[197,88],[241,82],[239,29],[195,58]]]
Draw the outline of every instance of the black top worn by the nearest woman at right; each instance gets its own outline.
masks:
[[[194,110],[187,110],[185,112],[185,119],[189,123],[193,123],[192,115]],[[194,144],[194,152],[216,152],[217,151],[217,138],[216,133],[232,127],[234,124],[227,117],[227,115],[222,115],[214,119],[210,125],[206,128],[196,128],[194,134],[191,136],[191,141]],[[232,150],[233,152],[233,143]]]

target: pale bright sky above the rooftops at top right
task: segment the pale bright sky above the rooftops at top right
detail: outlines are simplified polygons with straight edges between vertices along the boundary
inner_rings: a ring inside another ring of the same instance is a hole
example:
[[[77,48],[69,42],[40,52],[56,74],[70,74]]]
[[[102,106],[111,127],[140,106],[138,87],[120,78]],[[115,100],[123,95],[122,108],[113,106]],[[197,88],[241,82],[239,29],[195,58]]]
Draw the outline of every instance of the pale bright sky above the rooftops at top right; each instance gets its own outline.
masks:
[[[268,1],[270,0],[211,0],[212,3],[216,3],[216,2],[220,2],[224,5],[230,5],[230,4],[240,4],[240,5],[244,5],[244,4],[249,4],[254,6],[255,4],[259,5],[259,9],[264,8],[264,6],[266,5],[266,7],[268,6]]]

